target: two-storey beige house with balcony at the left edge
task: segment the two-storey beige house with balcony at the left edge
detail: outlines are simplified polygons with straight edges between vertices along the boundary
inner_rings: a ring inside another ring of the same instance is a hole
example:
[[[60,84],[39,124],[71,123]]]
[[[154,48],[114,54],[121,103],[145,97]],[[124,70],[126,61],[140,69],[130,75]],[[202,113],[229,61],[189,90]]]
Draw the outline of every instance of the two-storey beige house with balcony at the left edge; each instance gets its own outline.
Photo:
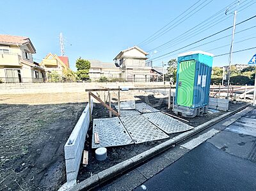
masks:
[[[35,47],[28,37],[0,34],[0,80],[43,82],[45,70],[33,62]]]

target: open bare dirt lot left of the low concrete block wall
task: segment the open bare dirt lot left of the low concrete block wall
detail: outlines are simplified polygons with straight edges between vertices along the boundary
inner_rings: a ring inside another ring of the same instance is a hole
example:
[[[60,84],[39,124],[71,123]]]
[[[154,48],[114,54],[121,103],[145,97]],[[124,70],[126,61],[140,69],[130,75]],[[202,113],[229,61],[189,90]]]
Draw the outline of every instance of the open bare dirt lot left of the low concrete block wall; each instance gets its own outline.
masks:
[[[0,96],[0,190],[58,190],[65,183],[64,144],[86,106],[70,97]]]

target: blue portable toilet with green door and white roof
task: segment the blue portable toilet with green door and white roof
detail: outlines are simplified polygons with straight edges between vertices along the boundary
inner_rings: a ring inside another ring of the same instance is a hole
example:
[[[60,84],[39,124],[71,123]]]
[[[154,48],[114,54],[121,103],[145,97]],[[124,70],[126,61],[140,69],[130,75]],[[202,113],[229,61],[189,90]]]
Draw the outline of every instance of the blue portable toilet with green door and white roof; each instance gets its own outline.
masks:
[[[207,112],[213,54],[191,51],[179,54],[173,112],[194,118]]]

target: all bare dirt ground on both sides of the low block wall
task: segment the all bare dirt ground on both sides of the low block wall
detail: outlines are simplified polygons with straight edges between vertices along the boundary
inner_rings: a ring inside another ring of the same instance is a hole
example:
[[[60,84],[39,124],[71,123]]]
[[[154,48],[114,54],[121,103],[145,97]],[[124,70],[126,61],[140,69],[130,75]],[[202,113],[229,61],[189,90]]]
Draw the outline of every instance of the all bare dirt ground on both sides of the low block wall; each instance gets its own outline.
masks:
[[[106,93],[95,93],[102,100]],[[116,102],[117,92],[112,93]],[[166,111],[168,99],[161,94],[144,91],[121,92],[122,100],[146,102]],[[36,95],[0,95],[0,190],[58,190],[65,183],[64,144],[88,102],[88,93],[52,93]],[[231,109],[240,105],[230,105]],[[200,125],[222,114],[189,119]],[[108,110],[99,103],[93,107],[93,118],[108,118]],[[91,149],[92,123],[85,149],[89,165],[80,167],[78,181],[131,158],[163,141],[108,148],[108,159],[95,160]],[[175,136],[177,134],[173,134]]]

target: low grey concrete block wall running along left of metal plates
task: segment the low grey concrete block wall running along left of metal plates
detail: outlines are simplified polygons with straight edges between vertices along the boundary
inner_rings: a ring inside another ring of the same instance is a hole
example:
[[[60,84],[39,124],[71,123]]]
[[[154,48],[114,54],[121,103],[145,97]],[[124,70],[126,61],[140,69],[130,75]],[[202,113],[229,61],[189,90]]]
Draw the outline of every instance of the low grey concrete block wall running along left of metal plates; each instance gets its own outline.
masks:
[[[91,108],[93,109],[93,101],[91,103]],[[70,137],[64,146],[68,185],[76,184],[79,165],[84,150],[84,141],[86,140],[89,125],[90,109],[88,104],[86,105],[86,108],[81,114],[76,126],[74,127],[74,130],[70,134]]]

